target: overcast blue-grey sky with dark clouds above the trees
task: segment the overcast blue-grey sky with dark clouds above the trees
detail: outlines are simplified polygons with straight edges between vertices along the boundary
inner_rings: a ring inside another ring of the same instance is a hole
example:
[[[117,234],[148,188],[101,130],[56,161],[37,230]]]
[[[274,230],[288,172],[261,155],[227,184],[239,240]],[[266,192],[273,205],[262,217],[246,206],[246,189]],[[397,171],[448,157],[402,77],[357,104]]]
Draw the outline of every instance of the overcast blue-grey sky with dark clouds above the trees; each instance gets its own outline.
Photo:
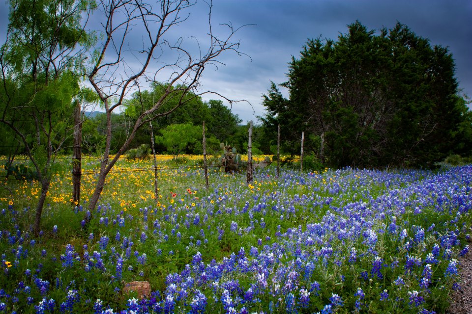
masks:
[[[0,42],[4,42],[7,6],[0,4]],[[181,33],[205,32],[207,6],[197,5]],[[217,71],[205,69],[202,85],[230,99],[250,105],[233,105],[244,121],[264,115],[262,95],[270,80],[287,80],[288,62],[298,58],[308,39],[337,39],[347,25],[359,20],[368,29],[392,28],[397,21],[432,45],[449,47],[456,64],[456,78],[463,93],[472,97],[472,0],[213,0],[213,23],[246,26],[236,33],[240,51],[227,54]],[[203,19],[202,19],[203,17]],[[201,25],[197,25],[202,22]],[[252,59],[252,61],[251,61]],[[166,78],[162,78],[165,80]],[[282,90],[287,95],[287,92]],[[215,97],[208,96],[205,99]]]

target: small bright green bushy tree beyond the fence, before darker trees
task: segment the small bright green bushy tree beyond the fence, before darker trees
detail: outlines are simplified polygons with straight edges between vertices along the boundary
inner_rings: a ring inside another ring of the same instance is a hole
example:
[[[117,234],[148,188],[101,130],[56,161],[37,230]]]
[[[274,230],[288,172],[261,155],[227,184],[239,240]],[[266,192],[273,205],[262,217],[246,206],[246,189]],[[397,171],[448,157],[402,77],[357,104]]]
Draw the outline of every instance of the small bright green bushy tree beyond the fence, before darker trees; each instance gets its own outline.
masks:
[[[178,155],[185,152],[189,145],[202,139],[202,128],[191,123],[172,124],[159,130],[161,136],[156,136],[156,143],[164,145],[168,154]]]

